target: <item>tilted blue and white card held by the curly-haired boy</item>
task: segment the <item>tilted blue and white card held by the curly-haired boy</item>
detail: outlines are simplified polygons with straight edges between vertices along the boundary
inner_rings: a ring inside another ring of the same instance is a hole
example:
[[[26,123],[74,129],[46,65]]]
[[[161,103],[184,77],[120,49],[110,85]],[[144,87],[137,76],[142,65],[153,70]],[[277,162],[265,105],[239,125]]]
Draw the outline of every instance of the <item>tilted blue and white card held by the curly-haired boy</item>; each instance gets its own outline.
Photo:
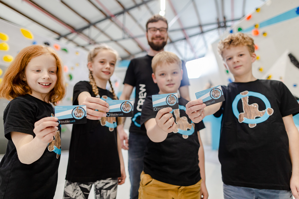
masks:
[[[196,92],[196,99],[201,99],[207,106],[225,101],[221,86]]]

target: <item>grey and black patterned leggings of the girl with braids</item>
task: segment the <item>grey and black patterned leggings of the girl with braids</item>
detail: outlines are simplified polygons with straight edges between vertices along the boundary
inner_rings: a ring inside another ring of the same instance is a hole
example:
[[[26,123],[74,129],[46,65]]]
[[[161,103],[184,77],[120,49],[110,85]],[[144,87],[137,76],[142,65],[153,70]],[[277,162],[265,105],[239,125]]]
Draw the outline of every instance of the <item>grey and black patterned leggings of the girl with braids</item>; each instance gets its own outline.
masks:
[[[95,182],[65,182],[63,199],[87,199],[91,186],[94,184],[95,199],[115,199],[118,178],[107,178]]]

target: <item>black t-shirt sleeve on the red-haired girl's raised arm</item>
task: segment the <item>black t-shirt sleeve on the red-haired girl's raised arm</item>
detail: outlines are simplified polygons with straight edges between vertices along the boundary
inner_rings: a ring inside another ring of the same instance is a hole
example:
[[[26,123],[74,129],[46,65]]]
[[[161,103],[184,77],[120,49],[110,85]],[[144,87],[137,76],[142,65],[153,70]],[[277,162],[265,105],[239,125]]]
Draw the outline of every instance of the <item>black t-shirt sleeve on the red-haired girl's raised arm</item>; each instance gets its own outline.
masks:
[[[11,140],[10,132],[30,134],[33,132],[36,117],[36,107],[24,99],[13,99],[3,113],[4,136]]]

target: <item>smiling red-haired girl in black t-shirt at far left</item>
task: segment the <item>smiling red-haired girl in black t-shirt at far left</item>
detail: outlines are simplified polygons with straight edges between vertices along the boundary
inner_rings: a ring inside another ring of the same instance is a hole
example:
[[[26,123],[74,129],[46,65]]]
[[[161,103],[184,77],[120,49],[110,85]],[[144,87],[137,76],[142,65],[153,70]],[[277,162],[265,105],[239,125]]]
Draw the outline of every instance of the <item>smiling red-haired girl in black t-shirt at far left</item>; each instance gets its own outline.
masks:
[[[50,47],[22,49],[7,68],[0,97],[7,149],[0,162],[0,198],[53,198],[60,161],[60,127],[52,104],[65,95],[62,62]]]

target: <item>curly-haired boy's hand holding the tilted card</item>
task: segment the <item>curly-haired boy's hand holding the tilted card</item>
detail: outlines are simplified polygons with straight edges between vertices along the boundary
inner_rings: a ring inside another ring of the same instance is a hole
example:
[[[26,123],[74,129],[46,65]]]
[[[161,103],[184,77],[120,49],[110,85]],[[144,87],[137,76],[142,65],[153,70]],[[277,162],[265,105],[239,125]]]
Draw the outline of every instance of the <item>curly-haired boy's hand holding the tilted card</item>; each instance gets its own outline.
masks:
[[[199,123],[205,117],[204,108],[205,104],[202,100],[193,100],[186,104],[186,113],[194,123]]]

